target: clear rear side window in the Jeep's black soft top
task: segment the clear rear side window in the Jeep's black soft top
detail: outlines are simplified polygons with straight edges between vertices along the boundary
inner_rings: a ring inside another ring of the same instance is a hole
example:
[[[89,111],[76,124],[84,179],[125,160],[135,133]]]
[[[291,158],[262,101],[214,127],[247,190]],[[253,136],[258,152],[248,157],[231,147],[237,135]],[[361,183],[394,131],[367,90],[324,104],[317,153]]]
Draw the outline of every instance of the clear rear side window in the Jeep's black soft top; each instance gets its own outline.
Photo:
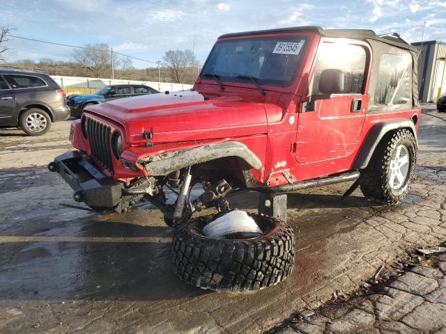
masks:
[[[408,104],[412,95],[411,71],[412,58],[408,53],[382,54],[376,81],[375,104],[378,106]]]

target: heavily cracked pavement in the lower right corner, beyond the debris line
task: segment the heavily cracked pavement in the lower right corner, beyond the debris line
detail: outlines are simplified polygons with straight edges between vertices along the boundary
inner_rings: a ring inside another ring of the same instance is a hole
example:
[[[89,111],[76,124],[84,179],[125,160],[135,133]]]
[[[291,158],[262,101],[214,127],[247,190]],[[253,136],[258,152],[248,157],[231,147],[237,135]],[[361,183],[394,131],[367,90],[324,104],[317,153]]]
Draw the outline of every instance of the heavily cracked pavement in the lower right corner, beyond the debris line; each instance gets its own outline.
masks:
[[[379,281],[371,280],[373,285],[364,283],[357,296],[328,301],[307,310],[306,317],[295,315],[270,333],[446,333],[446,253],[402,260],[388,271]]]

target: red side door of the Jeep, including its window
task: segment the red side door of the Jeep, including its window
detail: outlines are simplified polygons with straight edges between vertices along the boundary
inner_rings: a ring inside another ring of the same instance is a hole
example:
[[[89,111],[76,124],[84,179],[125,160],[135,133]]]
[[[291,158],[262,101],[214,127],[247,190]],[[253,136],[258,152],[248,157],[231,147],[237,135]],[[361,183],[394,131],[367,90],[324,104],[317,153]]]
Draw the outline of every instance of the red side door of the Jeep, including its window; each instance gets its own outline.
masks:
[[[328,162],[324,165],[330,174],[336,173],[337,166],[329,160],[352,154],[360,140],[369,102],[365,86],[370,50],[360,42],[330,39],[321,43],[317,57],[309,87],[310,102],[304,104],[298,118],[295,159],[300,164]],[[341,91],[321,93],[323,72],[343,74]]]

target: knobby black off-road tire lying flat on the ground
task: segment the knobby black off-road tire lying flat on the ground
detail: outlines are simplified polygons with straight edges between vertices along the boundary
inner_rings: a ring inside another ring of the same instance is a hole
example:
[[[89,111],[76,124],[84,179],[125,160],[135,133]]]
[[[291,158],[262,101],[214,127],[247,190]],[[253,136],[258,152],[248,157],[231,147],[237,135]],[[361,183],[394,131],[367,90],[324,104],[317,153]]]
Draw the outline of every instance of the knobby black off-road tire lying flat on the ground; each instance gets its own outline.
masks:
[[[294,267],[293,230],[268,216],[252,215],[265,231],[252,239],[210,239],[202,234],[212,219],[197,218],[174,237],[174,273],[202,289],[257,290],[282,282]]]

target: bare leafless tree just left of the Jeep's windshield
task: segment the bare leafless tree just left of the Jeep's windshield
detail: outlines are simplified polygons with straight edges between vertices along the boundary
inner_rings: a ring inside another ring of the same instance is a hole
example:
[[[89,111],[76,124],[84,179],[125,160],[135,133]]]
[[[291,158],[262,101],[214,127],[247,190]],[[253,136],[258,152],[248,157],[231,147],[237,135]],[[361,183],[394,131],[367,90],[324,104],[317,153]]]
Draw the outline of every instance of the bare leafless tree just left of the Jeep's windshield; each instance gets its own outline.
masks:
[[[191,50],[169,50],[162,59],[174,82],[185,84],[194,80],[191,67],[198,62]]]

